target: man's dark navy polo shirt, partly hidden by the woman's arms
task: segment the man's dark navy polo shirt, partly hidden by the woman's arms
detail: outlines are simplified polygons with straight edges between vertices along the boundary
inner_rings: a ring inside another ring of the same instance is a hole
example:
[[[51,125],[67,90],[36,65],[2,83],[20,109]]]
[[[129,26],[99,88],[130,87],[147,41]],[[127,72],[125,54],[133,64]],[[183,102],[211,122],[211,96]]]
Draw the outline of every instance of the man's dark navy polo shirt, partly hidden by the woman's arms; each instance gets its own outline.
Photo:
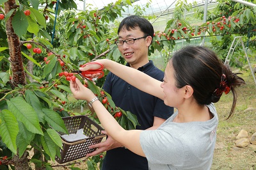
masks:
[[[153,61],[149,61],[146,65],[138,68],[138,70],[150,75],[154,79],[163,81],[164,73],[154,66]],[[134,77],[134,79],[137,79],[137,77]],[[111,72],[106,77],[103,89],[111,95],[117,107],[136,114],[140,123],[140,126],[137,126],[136,129],[145,130],[152,127],[154,116],[168,119],[173,114],[173,107],[165,105],[163,100],[134,88],[134,86],[131,86],[131,84],[128,84]],[[103,169],[120,168],[129,170],[148,169],[147,158],[140,157],[125,148],[107,151]]]

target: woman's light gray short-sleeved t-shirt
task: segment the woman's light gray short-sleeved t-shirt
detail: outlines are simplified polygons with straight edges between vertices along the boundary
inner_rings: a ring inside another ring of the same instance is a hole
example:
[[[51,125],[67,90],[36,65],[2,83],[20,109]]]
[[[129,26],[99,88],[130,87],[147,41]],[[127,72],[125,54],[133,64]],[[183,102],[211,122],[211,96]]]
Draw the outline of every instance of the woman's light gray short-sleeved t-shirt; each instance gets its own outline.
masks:
[[[157,130],[141,132],[149,169],[211,169],[218,115],[214,104],[207,107],[214,116],[209,121],[175,123],[175,112]]]

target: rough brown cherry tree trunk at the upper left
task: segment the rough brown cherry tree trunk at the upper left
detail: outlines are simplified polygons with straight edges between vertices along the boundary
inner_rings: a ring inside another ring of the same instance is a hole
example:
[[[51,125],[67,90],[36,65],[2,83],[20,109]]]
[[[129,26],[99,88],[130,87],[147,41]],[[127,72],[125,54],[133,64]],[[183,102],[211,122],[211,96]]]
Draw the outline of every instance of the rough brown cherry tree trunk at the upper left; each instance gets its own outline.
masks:
[[[17,8],[15,0],[9,0],[4,3],[4,13],[10,12],[10,10]],[[10,62],[12,66],[12,81],[15,85],[26,84],[25,72],[23,68],[23,61],[21,56],[21,47],[19,36],[14,33],[12,26],[12,19],[15,12],[12,13],[11,17],[6,20],[6,35],[8,39]]]

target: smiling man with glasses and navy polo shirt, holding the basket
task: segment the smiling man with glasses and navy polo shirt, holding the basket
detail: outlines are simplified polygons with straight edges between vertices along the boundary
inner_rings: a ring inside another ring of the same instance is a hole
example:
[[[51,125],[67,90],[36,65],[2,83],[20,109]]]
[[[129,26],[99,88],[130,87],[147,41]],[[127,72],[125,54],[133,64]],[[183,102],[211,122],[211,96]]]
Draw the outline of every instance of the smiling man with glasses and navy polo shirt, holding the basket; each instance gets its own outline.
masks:
[[[148,47],[152,43],[153,36],[154,28],[148,20],[131,15],[120,23],[118,40],[115,43],[127,66],[163,81],[164,73],[148,59]],[[173,107],[166,106],[163,100],[134,88],[111,72],[106,77],[103,89],[111,95],[116,106],[136,114],[140,123],[137,129],[156,129],[173,114]],[[127,150],[109,135],[105,142],[90,147],[98,149],[87,156],[107,151],[102,164],[103,170],[148,169],[147,158]]]

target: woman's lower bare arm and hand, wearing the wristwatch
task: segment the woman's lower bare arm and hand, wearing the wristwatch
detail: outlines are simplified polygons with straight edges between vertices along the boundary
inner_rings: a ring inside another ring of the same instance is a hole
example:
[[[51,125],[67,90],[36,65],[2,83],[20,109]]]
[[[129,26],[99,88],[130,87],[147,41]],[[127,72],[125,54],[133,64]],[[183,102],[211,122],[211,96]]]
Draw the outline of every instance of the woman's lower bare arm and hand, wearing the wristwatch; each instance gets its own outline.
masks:
[[[75,82],[70,81],[70,89],[74,97],[77,99],[87,100],[90,102],[95,98],[93,92],[90,89],[85,88],[79,79],[76,79]],[[141,130],[124,130],[124,128],[118,124],[111,114],[109,114],[99,100],[93,102],[92,106],[100,120],[100,123],[108,134],[113,137],[113,139],[123,144],[125,148],[128,148],[132,152],[145,157],[140,145]]]

